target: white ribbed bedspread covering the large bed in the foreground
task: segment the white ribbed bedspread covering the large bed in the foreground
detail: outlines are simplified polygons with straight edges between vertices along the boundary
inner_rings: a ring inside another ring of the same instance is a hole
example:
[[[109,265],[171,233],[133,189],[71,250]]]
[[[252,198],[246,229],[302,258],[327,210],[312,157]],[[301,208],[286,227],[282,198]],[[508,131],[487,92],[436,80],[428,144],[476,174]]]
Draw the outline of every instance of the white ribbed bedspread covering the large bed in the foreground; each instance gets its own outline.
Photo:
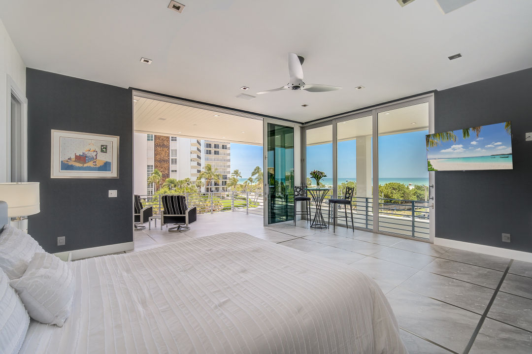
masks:
[[[20,353],[406,353],[367,276],[247,234],[70,264],[72,315]]]

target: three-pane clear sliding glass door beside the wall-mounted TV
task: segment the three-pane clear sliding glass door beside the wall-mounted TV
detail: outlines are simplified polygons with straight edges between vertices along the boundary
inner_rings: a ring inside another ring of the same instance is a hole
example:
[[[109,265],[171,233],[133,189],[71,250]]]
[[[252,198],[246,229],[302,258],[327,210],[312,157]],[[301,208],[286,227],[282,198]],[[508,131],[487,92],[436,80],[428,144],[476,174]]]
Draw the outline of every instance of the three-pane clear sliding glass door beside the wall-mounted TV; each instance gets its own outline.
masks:
[[[427,171],[425,136],[434,132],[433,122],[433,96],[427,95],[309,125],[302,182],[318,169],[327,173],[322,183],[331,197],[355,188],[356,228],[432,240],[434,172]],[[346,226],[344,208],[338,216],[337,225]]]

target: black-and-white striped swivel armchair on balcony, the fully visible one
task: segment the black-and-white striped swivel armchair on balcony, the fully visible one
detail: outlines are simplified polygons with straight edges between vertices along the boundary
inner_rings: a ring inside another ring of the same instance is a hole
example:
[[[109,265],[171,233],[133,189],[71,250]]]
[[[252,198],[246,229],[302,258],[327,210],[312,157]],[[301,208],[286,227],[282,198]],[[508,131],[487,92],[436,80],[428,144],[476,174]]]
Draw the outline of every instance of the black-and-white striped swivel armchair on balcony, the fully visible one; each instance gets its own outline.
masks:
[[[185,231],[190,229],[188,224],[196,221],[196,207],[188,208],[185,196],[161,196],[163,212],[161,214],[161,230],[163,225],[174,224],[168,230]]]

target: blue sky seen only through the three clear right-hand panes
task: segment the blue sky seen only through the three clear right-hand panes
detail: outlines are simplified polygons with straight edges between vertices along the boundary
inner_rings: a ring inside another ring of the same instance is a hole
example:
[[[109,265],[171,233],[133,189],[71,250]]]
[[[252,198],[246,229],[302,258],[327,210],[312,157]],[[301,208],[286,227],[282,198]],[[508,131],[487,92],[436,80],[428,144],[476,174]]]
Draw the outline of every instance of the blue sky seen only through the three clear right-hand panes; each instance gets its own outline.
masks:
[[[380,178],[428,178],[427,131],[379,137]],[[307,147],[307,174],[320,170],[332,178],[332,144]],[[338,143],[338,178],[356,177],[356,140]]]

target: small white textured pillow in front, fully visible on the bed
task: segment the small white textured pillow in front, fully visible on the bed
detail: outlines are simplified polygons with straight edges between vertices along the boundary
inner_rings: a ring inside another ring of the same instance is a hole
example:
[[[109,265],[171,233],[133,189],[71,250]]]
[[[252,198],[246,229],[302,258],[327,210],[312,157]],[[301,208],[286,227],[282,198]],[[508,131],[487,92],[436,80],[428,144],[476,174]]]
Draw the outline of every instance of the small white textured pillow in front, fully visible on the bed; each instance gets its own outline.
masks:
[[[70,316],[76,284],[68,263],[56,256],[36,253],[26,273],[10,284],[19,293],[31,318],[62,327]]]

